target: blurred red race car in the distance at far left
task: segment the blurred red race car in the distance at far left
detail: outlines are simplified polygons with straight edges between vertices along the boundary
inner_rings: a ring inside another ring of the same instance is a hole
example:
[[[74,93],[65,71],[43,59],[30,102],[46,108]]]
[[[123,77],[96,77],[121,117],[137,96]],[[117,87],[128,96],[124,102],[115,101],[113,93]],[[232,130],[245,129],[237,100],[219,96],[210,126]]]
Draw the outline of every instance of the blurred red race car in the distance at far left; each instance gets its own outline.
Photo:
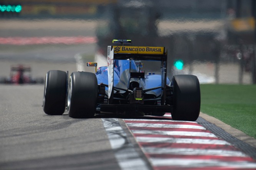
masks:
[[[31,67],[25,65],[11,66],[10,78],[0,77],[0,83],[25,84],[25,83],[44,83],[43,78],[31,77]]]

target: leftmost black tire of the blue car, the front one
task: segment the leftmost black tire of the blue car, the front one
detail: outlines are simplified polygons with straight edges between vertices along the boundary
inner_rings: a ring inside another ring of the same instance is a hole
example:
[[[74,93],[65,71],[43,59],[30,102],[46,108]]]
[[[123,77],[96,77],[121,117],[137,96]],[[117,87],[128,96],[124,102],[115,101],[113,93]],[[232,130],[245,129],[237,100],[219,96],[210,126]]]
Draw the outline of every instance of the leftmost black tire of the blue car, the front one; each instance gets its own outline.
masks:
[[[50,115],[62,115],[66,109],[67,74],[50,70],[45,77],[43,111]]]

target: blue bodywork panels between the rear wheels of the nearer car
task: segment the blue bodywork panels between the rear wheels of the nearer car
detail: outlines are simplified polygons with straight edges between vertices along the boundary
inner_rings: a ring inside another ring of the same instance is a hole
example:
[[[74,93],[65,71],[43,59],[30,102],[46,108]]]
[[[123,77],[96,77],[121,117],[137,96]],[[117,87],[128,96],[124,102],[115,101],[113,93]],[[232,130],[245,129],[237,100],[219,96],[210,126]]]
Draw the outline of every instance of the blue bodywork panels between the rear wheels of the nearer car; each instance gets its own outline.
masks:
[[[143,90],[161,87],[161,75],[145,75],[145,78],[130,78],[130,72],[140,72],[135,60],[114,60],[114,87],[128,90],[130,82],[138,82]],[[96,72],[98,84],[108,85],[108,67],[99,67]],[[166,85],[170,86],[170,79],[167,77]],[[106,94],[108,87],[105,88]],[[161,95],[161,88],[146,92],[155,96]]]

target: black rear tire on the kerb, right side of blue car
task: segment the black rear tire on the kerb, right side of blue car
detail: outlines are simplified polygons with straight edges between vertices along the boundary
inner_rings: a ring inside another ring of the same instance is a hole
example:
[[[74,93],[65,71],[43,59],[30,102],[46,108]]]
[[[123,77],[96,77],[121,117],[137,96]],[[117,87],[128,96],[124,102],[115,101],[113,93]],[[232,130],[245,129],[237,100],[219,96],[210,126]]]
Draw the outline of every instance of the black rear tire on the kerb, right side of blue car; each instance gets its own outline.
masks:
[[[173,84],[173,120],[196,121],[200,113],[201,95],[198,78],[194,75],[175,75]]]

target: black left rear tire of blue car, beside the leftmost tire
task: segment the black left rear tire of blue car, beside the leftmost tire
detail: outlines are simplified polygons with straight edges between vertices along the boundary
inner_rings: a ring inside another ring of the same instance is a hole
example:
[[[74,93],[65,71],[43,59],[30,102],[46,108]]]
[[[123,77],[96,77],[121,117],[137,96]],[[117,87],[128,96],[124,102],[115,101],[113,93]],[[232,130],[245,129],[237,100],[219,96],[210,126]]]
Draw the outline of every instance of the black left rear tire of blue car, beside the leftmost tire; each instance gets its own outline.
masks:
[[[98,81],[90,72],[73,72],[68,84],[67,109],[71,118],[91,118],[96,112]]]

